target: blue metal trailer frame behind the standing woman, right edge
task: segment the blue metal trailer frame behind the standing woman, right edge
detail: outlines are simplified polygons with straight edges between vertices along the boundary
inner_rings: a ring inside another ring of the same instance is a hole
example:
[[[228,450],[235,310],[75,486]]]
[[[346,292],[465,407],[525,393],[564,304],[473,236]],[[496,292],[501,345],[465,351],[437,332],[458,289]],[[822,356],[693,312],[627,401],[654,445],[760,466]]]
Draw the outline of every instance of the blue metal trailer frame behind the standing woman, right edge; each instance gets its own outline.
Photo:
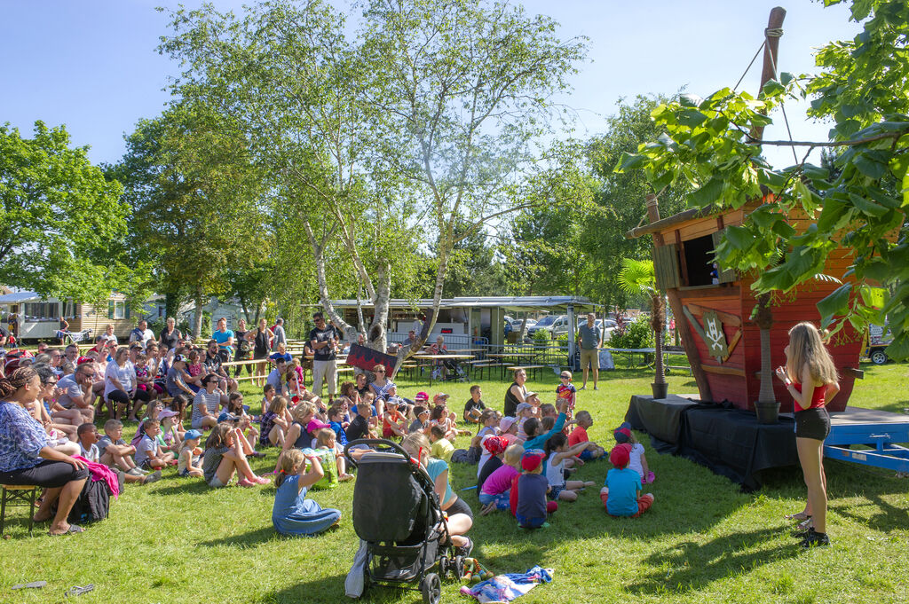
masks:
[[[909,415],[847,407],[830,414],[830,435],[824,441],[824,456],[909,476]],[[865,445],[871,449],[852,449]]]

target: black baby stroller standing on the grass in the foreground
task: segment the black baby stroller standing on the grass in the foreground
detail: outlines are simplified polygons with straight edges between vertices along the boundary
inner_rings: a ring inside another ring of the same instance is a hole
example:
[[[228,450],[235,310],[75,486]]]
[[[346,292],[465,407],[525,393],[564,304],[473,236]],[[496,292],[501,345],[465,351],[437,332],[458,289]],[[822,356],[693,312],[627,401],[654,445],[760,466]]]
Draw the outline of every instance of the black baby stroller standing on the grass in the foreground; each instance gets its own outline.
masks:
[[[351,447],[356,445],[373,450],[354,460]],[[364,589],[370,583],[416,583],[425,604],[437,604],[440,577],[450,572],[461,579],[464,559],[454,555],[433,481],[392,441],[351,441],[344,452],[357,468],[353,517],[354,530],[366,544]],[[430,572],[436,562],[437,572]]]

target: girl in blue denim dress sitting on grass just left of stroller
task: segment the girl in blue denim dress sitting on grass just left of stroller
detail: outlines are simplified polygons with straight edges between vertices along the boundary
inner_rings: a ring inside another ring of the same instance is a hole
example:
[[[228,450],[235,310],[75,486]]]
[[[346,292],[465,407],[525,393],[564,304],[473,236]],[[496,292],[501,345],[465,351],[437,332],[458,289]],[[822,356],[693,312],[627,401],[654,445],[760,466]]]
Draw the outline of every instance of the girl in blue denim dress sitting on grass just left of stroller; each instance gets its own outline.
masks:
[[[312,464],[306,471],[305,460]],[[325,472],[314,455],[304,456],[303,451],[285,451],[281,468],[275,479],[275,506],[272,523],[282,535],[316,535],[341,521],[339,510],[325,509],[314,500],[306,499],[306,490],[322,479]]]

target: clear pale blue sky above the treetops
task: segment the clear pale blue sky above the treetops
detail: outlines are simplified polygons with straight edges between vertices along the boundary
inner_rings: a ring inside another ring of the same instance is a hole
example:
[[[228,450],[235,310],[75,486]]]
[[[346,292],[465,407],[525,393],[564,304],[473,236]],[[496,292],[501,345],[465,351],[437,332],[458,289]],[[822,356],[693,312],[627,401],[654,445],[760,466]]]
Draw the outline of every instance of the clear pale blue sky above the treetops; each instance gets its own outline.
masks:
[[[734,86],[764,40],[767,16],[781,0],[524,0],[528,13],[553,17],[560,35],[585,35],[588,60],[571,78],[573,90],[554,99],[574,109],[574,135],[602,134],[621,99],[685,92],[706,96]],[[185,0],[187,7],[201,3]],[[242,1],[214,0],[242,10]],[[347,8],[348,0],[333,4]],[[30,136],[36,120],[65,124],[75,145],[90,146],[94,163],[114,163],[124,135],[139,119],[160,114],[170,100],[169,77],[179,66],[155,50],[168,35],[155,6],[171,0],[0,0],[0,124]],[[849,39],[859,26],[836,5],[790,0],[780,40],[781,71],[814,73],[814,50]],[[741,88],[756,94],[761,57]],[[806,103],[787,104],[795,140],[825,140],[829,124],[808,120]],[[782,124],[782,120],[779,120]],[[764,137],[787,139],[783,126]],[[768,148],[778,166],[793,163],[789,148]],[[816,158],[815,158],[816,160]]]

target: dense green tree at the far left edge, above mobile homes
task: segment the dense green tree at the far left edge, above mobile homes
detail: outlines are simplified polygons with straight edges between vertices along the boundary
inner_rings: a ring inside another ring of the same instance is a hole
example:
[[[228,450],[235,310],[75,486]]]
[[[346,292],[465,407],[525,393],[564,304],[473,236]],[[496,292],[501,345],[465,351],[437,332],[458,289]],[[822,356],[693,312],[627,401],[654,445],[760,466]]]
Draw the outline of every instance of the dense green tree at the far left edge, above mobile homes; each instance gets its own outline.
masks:
[[[64,126],[35,122],[34,134],[0,126],[0,282],[106,300],[135,277],[110,252],[126,233],[123,188],[88,161],[87,147],[70,147]]]

